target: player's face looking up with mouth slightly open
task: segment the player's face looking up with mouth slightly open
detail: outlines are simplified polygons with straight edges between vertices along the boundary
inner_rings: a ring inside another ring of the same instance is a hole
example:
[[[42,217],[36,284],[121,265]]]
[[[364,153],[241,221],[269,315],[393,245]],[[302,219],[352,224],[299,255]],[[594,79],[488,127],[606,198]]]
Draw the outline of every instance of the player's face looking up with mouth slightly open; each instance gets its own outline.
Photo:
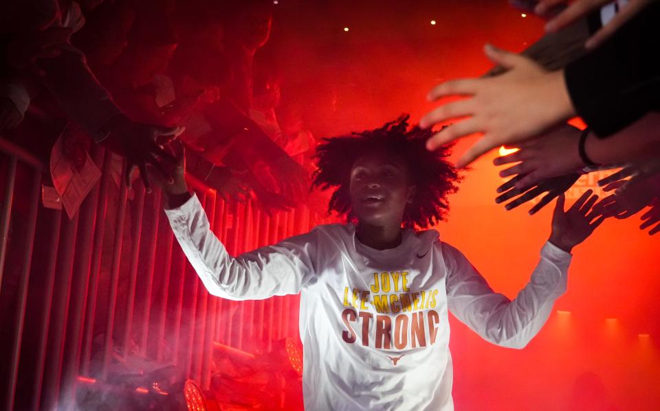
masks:
[[[401,226],[406,205],[415,196],[408,167],[391,153],[358,158],[351,169],[351,207],[361,224]]]

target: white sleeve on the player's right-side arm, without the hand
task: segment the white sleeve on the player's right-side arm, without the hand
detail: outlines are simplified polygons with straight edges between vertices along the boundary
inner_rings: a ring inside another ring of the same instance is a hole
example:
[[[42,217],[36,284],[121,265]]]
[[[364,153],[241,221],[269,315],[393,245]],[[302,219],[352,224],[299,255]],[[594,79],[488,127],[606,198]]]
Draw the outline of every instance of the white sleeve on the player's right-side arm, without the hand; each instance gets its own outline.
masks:
[[[571,255],[547,242],[541,259],[513,301],[492,290],[486,280],[456,248],[442,243],[447,268],[449,309],[484,340],[522,349],[543,327],[555,300],[566,291]]]

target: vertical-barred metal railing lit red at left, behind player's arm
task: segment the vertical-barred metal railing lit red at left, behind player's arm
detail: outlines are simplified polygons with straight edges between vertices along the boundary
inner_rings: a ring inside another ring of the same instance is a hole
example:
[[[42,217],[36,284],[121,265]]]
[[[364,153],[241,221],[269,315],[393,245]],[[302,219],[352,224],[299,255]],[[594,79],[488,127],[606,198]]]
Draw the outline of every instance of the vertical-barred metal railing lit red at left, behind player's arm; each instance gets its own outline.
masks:
[[[0,304],[3,410],[68,410],[76,386],[141,356],[210,386],[214,344],[270,351],[298,340],[299,296],[236,302],[211,296],[173,239],[159,191],[132,198],[111,178],[112,155],[91,157],[102,177],[78,213],[41,205],[39,159],[0,138]],[[123,180],[123,179],[120,179]],[[214,233],[232,255],[330,222],[299,207],[267,215],[225,202],[190,180]],[[63,214],[64,213],[64,214]]]

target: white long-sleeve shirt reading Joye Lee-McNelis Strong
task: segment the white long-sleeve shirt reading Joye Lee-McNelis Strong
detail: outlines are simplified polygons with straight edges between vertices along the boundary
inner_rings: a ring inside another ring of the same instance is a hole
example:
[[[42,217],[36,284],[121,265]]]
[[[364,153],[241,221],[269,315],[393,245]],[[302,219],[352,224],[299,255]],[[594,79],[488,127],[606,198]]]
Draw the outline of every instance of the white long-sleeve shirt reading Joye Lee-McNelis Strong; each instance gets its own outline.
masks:
[[[545,244],[510,301],[436,231],[406,229],[399,246],[375,250],[353,224],[330,224],[232,257],[196,196],[166,214],[211,294],[300,292],[307,410],[453,410],[448,311],[489,342],[525,347],[566,290],[571,259]]]

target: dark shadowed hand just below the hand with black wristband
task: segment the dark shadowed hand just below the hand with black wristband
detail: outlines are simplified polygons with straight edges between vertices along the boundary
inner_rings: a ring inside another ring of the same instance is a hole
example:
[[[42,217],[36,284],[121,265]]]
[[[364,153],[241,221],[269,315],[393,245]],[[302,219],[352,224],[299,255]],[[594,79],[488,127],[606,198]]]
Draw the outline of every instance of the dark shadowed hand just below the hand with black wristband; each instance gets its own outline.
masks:
[[[498,193],[502,193],[505,190],[509,190],[509,191],[506,191],[505,193],[495,198],[495,202],[499,204],[500,202],[509,200],[510,198],[514,198],[515,196],[520,196],[520,194],[522,194],[522,196],[516,198],[516,200],[513,200],[505,205],[505,208],[507,210],[512,210],[518,207],[520,204],[525,204],[525,202],[528,202],[529,200],[532,200],[533,198],[540,196],[542,193],[547,193],[545,196],[543,196],[543,198],[541,198],[541,200],[534,207],[532,207],[529,210],[529,214],[533,215],[537,211],[545,207],[553,199],[563,195],[566,192],[566,190],[571,188],[575,183],[575,181],[577,181],[577,179],[580,178],[580,174],[573,173],[573,174],[566,174],[565,176],[546,178],[544,180],[541,180],[540,183],[538,183],[538,185],[532,187],[529,190],[515,188],[514,185],[518,182],[518,180],[524,177],[525,174],[520,174],[518,176],[515,176],[514,178],[511,178],[503,185],[500,185],[500,187],[497,188]]]

